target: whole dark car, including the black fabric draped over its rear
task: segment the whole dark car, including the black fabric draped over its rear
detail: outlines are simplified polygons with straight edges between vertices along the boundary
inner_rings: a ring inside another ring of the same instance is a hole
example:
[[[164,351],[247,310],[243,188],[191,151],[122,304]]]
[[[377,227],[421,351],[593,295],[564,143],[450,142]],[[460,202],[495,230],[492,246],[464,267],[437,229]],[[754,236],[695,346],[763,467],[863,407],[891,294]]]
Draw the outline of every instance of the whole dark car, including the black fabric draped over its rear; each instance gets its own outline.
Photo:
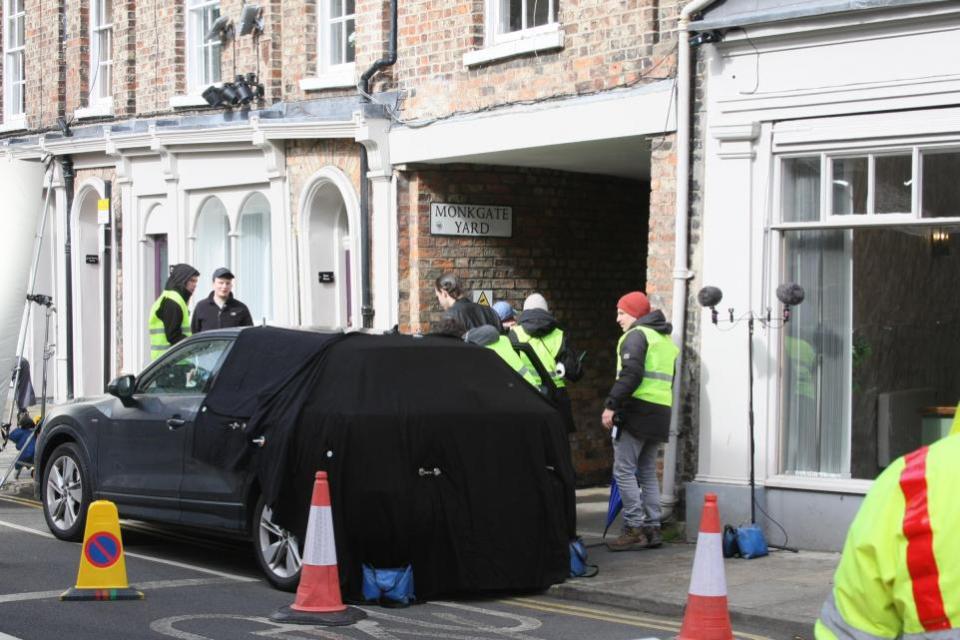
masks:
[[[87,506],[246,536],[267,579],[299,580],[316,471],[331,489],[344,597],[363,567],[417,596],[543,589],[569,572],[574,474],[563,417],[492,350],[462,340],[209,331],[109,394],[51,413],[38,492],[58,538]]]

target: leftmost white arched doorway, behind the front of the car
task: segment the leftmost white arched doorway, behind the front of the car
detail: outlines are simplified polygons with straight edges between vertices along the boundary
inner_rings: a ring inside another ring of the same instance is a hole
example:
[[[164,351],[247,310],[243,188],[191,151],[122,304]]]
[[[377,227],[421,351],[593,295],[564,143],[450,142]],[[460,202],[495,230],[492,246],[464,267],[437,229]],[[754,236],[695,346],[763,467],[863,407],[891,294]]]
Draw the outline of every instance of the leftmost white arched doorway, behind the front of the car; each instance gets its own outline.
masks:
[[[82,188],[74,205],[73,318],[74,394],[104,391],[103,227],[97,221],[102,189]]]

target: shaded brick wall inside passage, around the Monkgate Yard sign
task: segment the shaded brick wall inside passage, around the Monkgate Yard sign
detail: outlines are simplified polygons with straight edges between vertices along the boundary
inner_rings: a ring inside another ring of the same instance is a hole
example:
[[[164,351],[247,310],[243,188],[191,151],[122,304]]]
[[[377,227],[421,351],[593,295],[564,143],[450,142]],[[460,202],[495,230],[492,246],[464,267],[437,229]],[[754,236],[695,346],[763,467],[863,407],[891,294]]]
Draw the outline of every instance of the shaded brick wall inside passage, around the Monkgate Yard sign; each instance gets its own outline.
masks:
[[[579,479],[607,479],[609,442],[599,418],[615,369],[617,298],[646,284],[649,186],[609,176],[452,165],[401,173],[398,195],[401,330],[428,331],[441,317],[433,282],[447,270],[518,309],[527,295],[542,293],[573,345],[589,352],[586,375],[569,385]],[[431,202],[510,206],[513,237],[431,236]]]

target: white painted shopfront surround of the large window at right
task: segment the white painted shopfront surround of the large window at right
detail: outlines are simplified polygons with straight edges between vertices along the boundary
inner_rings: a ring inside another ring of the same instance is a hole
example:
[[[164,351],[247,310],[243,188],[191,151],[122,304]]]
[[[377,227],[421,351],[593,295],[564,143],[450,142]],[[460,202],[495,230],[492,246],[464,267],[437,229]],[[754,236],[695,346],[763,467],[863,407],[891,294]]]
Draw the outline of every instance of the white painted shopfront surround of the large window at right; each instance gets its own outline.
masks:
[[[743,31],[731,30],[724,42],[711,45],[706,65],[697,286],[723,289],[721,318],[728,307],[737,317],[779,308],[776,247],[766,230],[775,206],[775,150],[813,143],[850,148],[892,135],[960,142],[960,113],[937,109],[960,104],[960,12],[952,3],[757,26],[747,33],[749,40]],[[877,113],[900,110],[920,111]],[[698,481],[747,481],[746,332],[745,322],[720,330],[710,324],[709,311],[702,312]],[[758,482],[864,492],[870,483],[862,480],[778,476],[779,339],[778,330],[757,327]]]

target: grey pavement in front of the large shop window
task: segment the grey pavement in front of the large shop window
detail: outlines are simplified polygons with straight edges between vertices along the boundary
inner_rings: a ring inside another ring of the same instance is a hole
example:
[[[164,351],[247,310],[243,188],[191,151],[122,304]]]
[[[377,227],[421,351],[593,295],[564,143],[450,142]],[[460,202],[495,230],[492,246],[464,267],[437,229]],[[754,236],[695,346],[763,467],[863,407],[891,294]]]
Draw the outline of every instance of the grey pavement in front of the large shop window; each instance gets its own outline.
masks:
[[[588,547],[588,563],[600,572],[554,585],[549,595],[657,615],[682,614],[696,545],[672,542],[659,549],[608,551],[601,541],[608,496],[607,487],[577,491],[578,530]],[[720,513],[722,517],[722,504]],[[620,526],[618,517],[607,538],[616,538]],[[726,559],[731,619],[776,630],[775,637],[812,638],[839,560],[839,553],[776,550],[763,558]]]

